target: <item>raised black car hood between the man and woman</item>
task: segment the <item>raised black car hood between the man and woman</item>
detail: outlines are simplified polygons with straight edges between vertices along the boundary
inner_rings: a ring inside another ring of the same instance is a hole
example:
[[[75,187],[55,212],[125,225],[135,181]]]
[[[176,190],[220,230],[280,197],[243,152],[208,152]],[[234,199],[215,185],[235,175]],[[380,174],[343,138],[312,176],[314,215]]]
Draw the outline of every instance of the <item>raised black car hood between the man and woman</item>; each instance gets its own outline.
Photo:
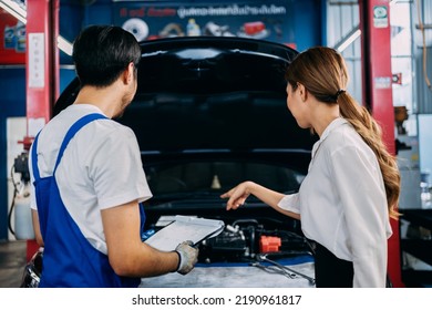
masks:
[[[286,105],[285,70],[297,52],[245,38],[172,38],[141,43],[138,89],[120,123],[143,154],[199,149],[250,153],[307,151],[316,137]],[[75,79],[54,115],[79,92]]]

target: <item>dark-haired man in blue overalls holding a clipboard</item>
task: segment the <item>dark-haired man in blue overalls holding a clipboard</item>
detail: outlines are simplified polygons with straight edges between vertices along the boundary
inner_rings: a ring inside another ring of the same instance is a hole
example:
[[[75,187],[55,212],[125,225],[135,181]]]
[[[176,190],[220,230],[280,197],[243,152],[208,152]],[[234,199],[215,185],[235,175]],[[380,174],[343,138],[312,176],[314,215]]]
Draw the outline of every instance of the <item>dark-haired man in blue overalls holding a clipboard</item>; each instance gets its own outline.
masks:
[[[135,95],[140,58],[120,27],[92,25],[74,41],[81,91],[30,151],[40,287],[137,287],[143,277],[185,275],[197,261],[188,241],[164,252],[141,239],[141,203],[152,193],[134,133],[111,120]]]

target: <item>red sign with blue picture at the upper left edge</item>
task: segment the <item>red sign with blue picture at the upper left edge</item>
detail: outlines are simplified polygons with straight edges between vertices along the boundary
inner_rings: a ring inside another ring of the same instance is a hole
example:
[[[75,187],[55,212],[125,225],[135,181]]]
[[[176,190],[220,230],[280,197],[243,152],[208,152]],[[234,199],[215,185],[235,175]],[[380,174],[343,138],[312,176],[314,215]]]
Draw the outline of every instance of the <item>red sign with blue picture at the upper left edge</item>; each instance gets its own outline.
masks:
[[[25,41],[25,24],[0,9],[0,64],[24,64]]]

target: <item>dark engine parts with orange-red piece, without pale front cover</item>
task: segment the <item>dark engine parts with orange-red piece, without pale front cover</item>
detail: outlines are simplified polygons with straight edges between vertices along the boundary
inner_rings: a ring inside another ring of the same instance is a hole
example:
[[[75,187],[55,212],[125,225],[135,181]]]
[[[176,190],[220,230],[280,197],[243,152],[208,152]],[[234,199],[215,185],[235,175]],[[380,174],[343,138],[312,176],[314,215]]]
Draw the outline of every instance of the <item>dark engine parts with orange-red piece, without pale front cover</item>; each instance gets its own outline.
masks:
[[[225,227],[217,236],[197,245],[199,264],[253,264],[263,255],[275,260],[297,256],[312,257],[312,246],[302,235],[299,221],[278,214],[268,206],[248,206],[235,211],[205,209],[205,218],[223,220]],[[151,210],[147,211],[147,231],[156,232],[169,224],[169,220],[161,220],[164,215],[156,216],[158,213]],[[192,209],[183,210],[182,215],[197,216]]]

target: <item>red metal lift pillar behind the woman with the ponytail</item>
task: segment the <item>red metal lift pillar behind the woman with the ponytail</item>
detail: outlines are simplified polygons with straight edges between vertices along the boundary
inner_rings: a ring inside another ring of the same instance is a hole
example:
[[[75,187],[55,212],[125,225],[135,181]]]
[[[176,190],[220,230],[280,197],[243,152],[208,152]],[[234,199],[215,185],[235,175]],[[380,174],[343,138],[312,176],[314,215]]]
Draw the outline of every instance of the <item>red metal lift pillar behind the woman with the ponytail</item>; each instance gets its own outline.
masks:
[[[388,0],[360,0],[364,102],[383,131],[384,143],[395,154],[394,112],[392,96],[390,8]],[[393,236],[389,239],[389,276],[394,287],[403,287],[399,220],[391,220]]]

